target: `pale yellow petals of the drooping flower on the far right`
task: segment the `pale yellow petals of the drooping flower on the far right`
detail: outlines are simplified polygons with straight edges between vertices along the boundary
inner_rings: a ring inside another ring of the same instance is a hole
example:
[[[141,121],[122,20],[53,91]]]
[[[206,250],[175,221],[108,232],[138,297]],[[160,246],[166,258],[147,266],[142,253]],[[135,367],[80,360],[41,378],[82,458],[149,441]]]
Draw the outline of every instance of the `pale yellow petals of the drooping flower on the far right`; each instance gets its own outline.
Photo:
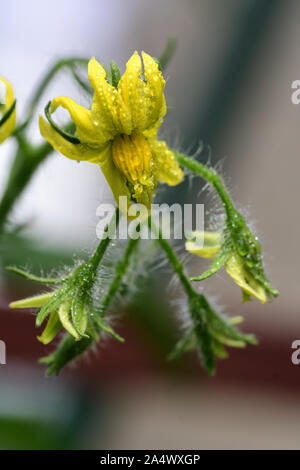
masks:
[[[214,258],[220,253],[222,248],[222,233],[218,232],[193,232],[194,239],[186,242],[186,249],[193,254],[203,258]],[[195,240],[196,239],[196,240]],[[199,243],[202,240],[203,243]],[[250,272],[248,266],[244,263],[241,256],[234,249],[228,249],[224,252],[224,261],[220,261],[220,269],[224,264],[227,274],[231,279],[242,288],[244,300],[250,300],[254,296],[262,303],[267,300],[267,294],[264,286],[257,281]],[[216,272],[217,269],[214,269]],[[209,270],[207,271],[209,273]],[[207,276],[208,277],[208,276]]]

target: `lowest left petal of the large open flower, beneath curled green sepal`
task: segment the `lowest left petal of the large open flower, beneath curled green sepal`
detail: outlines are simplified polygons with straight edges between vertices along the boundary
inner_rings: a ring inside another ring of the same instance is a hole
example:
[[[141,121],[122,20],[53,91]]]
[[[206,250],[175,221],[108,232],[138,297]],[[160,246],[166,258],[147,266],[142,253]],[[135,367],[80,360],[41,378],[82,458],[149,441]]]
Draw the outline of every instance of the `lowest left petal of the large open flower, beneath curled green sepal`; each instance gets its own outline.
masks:
[[[39,119],[40,132],[57,152],[62,153],[65,157],[72,160],[85,160],[91,163],[99,162],[99,154],[103,150],[101,147],[93,148],[86,144],[72,144],[62,137],[55,129],[40,116]]]

